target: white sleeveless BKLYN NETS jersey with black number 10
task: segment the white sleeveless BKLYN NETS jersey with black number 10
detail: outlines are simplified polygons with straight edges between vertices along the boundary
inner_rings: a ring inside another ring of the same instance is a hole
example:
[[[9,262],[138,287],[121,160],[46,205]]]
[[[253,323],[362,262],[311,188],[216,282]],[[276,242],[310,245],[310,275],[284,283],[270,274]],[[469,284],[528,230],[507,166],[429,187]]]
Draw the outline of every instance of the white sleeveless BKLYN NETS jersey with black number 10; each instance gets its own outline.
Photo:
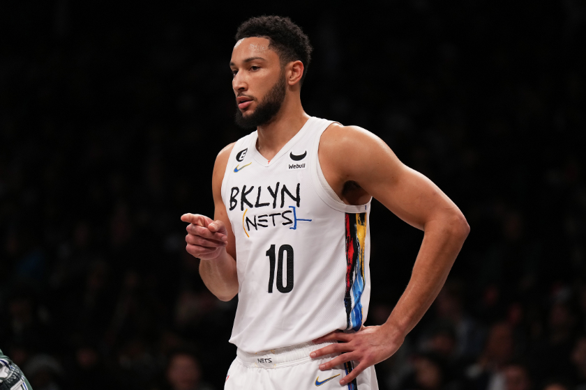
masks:
[[[236,237],[238,309],[230,342],[246,352],[356,331],[370,300],[370,201],[347,205],[317,148],[329,120],[311,117],[268,161],[257,132],[236,141],[222,198]]]

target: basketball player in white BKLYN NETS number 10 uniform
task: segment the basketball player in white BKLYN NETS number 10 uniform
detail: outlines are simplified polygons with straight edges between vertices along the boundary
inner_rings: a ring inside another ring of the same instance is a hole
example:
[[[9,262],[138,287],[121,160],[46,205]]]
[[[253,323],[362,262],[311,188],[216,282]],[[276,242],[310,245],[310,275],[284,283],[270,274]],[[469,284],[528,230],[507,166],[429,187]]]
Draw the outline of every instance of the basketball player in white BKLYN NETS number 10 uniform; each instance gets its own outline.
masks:
[[[236,123],[255,131],[218,154],[213,219],[181,217],[206,286],[223,301],[239,297],[225,389],[377,389],[373,365],[398,350],[437,296],[467,222],[374,134],[303,111],[312,49],[299,26],[255,17],[236,41]],[[364,327],[373,196],[425,235],[389,319]]]

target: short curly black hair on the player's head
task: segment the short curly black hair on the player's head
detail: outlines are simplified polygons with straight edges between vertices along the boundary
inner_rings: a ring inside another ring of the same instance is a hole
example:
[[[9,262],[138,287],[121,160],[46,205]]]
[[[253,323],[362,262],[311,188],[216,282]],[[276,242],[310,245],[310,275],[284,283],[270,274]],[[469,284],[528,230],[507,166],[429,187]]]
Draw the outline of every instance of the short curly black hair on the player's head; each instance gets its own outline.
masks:
[[[283,65],[291,61],[301,61],[303,76],[301,76],[300,84],[303,84],[311,62],[313,47],[309,43],[308,36],[299,26],[288,17],[274,15],[251,17],[238,27],[234,38],[238,41],[250,37],[267,38],[269,47],[278,54]]]

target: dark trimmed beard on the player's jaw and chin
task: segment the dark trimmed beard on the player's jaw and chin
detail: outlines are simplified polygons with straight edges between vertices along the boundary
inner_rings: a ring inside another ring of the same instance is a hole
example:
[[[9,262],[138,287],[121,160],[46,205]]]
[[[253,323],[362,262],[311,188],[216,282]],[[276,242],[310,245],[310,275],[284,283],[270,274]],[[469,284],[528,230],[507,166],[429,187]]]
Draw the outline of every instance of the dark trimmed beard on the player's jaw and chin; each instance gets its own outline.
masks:
[[[280,77],[273,88],[271,88],[271,91],[266,94],[262,102],[258,104],[255,111],[250,115],[243,116],[240,109],[236,106],[234,122],[245,130],[252,130],[260,125],[271,123],[280,111],[281,106],[283,106],[286,91],[287,84],[285,84],[285,77]]]

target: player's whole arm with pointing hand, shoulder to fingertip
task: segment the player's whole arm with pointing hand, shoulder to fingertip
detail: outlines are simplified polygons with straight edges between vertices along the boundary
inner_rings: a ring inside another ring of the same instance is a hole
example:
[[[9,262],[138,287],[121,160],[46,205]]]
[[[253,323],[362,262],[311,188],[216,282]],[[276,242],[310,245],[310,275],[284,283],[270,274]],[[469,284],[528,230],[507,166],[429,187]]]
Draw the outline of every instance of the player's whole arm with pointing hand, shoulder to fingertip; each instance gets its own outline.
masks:
[[[213,295],[230,301],[238,293],[236,274],[236,240],[232,233],[226,206],[222,201],[222,181],[234,143],[223,148],[213,166],[213,219],[200,214],[183,214],[187,226],[187,251],[200,258],[200,275]]]

